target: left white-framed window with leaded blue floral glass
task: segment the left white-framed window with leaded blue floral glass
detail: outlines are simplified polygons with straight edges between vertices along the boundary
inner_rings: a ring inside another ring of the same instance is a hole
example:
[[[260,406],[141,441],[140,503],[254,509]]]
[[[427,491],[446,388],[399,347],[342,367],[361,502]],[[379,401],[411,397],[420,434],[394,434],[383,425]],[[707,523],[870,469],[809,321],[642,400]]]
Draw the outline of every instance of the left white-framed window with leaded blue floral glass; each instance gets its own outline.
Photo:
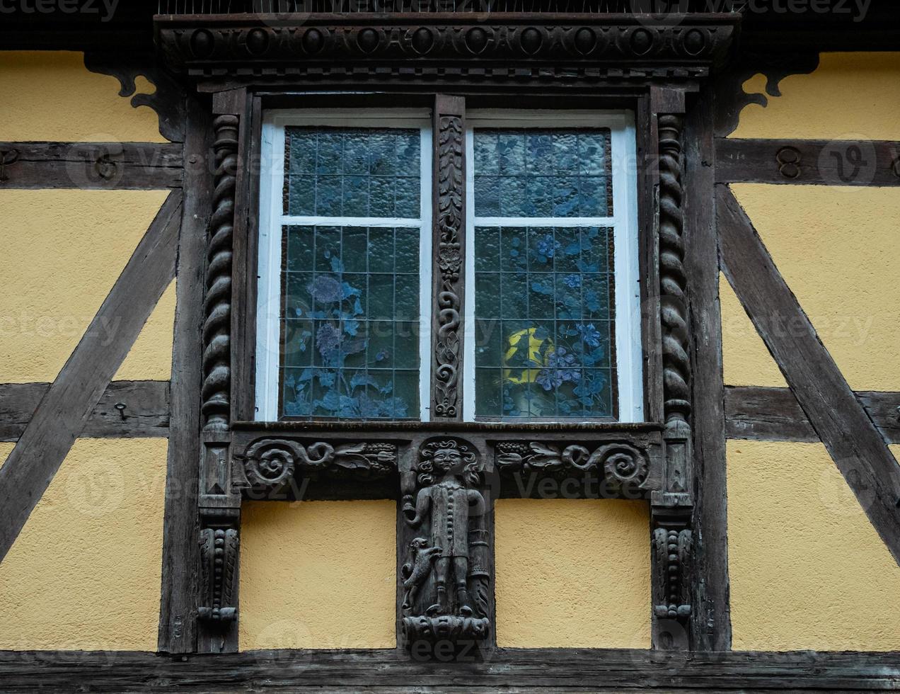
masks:
[[[428,112],[275,113],[263,142],[257,419],[427,419]]]

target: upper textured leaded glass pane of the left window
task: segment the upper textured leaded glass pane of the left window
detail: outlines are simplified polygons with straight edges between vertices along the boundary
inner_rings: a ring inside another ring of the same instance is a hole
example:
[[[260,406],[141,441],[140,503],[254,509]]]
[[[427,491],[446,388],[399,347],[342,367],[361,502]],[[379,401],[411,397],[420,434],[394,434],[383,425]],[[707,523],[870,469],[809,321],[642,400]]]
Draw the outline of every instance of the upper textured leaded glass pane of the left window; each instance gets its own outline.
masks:
[[[420,134],[399,128],[287,127],[284,213],[420,214]]]

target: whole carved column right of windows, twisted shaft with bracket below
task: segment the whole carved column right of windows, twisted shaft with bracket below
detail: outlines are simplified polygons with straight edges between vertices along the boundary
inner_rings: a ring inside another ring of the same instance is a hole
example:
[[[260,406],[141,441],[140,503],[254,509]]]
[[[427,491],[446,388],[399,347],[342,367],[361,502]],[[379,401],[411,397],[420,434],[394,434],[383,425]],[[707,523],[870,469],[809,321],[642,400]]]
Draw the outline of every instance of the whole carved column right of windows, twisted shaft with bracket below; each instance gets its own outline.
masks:
[[[653,492],[653,647],[690,647],[693,587],[691,512],[691,385],[687,276],[684,265],[684,93],[654,89],[651,96],[659,142],[659,262],[662,332],[662,489]]]

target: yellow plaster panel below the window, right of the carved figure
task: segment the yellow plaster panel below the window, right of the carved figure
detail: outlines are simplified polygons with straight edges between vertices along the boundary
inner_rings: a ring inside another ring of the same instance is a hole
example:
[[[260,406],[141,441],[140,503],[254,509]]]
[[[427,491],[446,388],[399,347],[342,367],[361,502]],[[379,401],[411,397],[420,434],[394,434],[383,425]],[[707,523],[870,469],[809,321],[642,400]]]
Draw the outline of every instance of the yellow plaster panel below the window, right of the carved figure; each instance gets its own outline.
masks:
[[[649,648],[649,527],[641,501],[498,501],[498,645]]]

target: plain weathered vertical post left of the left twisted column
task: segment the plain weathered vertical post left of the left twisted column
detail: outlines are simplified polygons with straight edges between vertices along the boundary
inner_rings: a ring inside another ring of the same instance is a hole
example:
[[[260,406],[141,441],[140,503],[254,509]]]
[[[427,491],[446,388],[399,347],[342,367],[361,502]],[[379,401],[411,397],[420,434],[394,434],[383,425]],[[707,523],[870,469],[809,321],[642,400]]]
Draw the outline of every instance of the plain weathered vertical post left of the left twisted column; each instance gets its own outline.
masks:
[[[198,100],[188,102],[157,641],[157,648],[166,653],[192,653],[197,638],[203,270],[212,198],[212,173],[204,165],[212,148],[212,118],[208,112]]]

